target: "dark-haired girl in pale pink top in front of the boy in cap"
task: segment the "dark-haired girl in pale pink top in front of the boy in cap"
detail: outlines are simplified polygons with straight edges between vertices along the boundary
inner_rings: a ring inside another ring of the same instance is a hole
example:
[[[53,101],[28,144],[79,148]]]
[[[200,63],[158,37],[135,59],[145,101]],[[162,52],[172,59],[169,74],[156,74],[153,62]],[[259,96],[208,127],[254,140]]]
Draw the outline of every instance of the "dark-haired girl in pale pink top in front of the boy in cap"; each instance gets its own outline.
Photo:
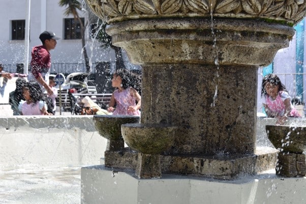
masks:
[[[19,103],[18,109],[22,115],[51,115],[43,101],[43,93],[36,81],[26,82],[22,88],[25,101]]]

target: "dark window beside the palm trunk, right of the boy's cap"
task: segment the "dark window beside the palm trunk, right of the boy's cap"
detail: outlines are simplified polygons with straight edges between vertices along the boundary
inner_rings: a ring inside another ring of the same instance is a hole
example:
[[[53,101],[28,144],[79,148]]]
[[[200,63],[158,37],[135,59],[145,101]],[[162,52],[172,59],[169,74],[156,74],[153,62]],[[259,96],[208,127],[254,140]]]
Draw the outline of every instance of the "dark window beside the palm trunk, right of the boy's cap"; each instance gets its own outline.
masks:
[[[81,18],[84,25],[84,18]],[[65,40],[81,39],[81,25],[74,18],[65,18]]]

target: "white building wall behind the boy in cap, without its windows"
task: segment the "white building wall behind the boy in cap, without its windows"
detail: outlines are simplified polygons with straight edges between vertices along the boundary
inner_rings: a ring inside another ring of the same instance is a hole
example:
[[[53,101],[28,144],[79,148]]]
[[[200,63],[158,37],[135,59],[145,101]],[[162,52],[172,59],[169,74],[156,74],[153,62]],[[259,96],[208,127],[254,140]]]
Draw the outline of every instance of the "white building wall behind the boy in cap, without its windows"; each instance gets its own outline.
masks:
[[[2,0],[0,12],[0,63],[18,64],[24,63],[24,40],[11,40],[11,20],[26,19],[26,1]],[[46,13],[41,11],[42,4],[46,3]],[[52,63],[83,63],[81,53],[81,40],[64,40],[64,8],[58,6],[54,0],[32,0],[30,7],[30,43],[29,48],[41,45],[39,35],[45,29],[53,31],[61,39],[57,41],[56,48],[51,50]],[[42,16],[46,18],[42,18]],[[82,16],[83,13],[80,12]],[[42,22],[46,19],[46,22]],[[110,61],[114,59],[112,50],[104,50],[97,42],[86,38],[88,56],[92,62]],[[29,61],[31,60],[29,50]]]

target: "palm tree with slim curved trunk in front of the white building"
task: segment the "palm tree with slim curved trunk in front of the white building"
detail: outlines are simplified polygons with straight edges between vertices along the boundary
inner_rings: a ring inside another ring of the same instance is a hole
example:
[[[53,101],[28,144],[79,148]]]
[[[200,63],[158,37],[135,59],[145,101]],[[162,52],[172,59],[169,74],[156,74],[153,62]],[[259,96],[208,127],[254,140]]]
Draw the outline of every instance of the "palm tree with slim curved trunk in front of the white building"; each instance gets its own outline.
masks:
[[[78,10],[81,11],[82,5],[78,0],[59,0],[58,5],[61,7],[67,7],[64,11],[64,14],[66,16],[69,16],[70,14],[73,15],[74,19],[77,20],[80,23],[81,26],[81,40],[82,40],[82,52],[84,55],[85,60],[85,66],[86,66],[86,72],[90,72],[90,66],[89,66],[89,58],[87,55],[86,47],[85,47],[85,27],[84,24],[78,14]]]

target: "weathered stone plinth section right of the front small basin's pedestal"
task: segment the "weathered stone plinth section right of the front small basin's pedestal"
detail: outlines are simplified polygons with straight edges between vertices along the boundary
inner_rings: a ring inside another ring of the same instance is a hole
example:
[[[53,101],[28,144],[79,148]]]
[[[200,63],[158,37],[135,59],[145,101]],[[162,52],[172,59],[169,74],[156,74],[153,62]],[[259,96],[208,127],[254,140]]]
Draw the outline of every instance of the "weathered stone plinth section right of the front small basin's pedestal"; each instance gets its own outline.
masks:
[[[244,174],[251,175],[271,168],[276,163],[277,153],[276,150],[261,150],[250,155],[202,157],[162,155],[162,172],[232,180]]]

